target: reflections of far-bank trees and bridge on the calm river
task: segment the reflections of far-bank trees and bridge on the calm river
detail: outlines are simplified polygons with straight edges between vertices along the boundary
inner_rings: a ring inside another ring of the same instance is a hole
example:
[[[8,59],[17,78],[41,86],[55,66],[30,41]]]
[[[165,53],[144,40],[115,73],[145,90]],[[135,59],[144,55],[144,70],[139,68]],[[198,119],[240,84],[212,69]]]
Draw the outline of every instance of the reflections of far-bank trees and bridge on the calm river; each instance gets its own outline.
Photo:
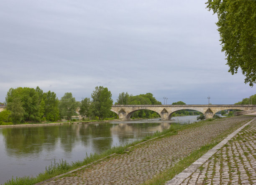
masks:
[[[72,152],[81,142],[84,147],[100,153],[113,144],[113,136],[120,144],[127,139],[137,139],[146,134],[162,131],[169,123],[120,123],[120,124],[64,124],[56,126],[3,128],[7,155],[26,157],[40,155],[44,150],[54,151],[58,142],[65,152]]]

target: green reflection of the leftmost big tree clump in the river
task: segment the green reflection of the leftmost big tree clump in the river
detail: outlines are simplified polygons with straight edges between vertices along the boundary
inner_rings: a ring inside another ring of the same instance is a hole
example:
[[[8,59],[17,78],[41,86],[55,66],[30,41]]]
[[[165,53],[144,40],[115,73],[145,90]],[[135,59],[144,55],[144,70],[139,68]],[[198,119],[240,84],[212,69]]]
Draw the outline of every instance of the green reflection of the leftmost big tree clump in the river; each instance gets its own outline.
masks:
[[[5,128],[2,130],[8,155],[24,157],[38,155],[42,150],[54,150],[58,129],[46,127]]]

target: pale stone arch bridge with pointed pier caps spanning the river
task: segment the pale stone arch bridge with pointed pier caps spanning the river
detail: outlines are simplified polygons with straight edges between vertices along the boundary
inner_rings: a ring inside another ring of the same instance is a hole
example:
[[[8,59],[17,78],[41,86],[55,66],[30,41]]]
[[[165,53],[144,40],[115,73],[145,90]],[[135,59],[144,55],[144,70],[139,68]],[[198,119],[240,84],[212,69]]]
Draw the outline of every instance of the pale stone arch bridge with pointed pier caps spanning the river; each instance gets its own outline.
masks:
[[[119,119],[129,120],[133,112],[142,109],[157,112],[162,120],[169,120],[172,117],[172,113],[184,109],[202,112],[208,119],[222,110],[237,109],[247,111],[256,109],[256,105],[113,105],[111,111],[118,114]]]

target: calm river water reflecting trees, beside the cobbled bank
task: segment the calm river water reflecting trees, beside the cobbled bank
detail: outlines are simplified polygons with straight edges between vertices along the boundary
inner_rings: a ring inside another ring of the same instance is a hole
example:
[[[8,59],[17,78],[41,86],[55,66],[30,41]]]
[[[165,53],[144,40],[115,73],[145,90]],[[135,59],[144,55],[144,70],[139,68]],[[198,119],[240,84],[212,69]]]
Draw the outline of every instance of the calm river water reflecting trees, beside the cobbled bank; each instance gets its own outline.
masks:
[[[142,139],[173,123],[193,123],[196,117],[0,128],[0,183],[12,176],[35,176],[54,159],[83,160],[86,154]]]

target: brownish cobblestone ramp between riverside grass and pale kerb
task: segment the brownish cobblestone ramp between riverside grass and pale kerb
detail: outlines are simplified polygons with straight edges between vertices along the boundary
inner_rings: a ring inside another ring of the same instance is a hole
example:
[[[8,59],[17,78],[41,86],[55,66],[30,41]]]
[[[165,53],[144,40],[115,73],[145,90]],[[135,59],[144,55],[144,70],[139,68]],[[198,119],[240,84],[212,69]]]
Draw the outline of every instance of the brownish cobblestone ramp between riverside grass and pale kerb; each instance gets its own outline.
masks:
[[[184,129],[177,135],[151,140],[139,145],[128,154],[110,157],[84,170],[45,184],[141,184],[166,168],[172,167],[193,150],[209,143],[214,137],[228,129],[235,130],[250,119],[251,117],[248,116],[232,117],[200,124],[200,127]],[[252,150],[253,147],[251,145],[250,147]]]

